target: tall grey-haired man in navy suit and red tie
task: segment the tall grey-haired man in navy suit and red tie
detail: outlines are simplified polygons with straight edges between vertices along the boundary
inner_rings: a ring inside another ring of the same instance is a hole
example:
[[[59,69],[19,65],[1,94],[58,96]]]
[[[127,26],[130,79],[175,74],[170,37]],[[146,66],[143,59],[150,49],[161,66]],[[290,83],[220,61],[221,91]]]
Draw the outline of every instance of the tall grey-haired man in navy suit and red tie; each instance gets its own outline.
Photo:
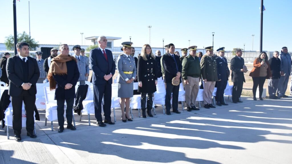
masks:
[[[112,104],[112,76],[116,71],[116,64],[112,57],[112,51],[105,49],[107,46],[107,38],[105,36],[98,37],[98,48],[90,51],[89,57],[91,62],[92,83],[94,93],[94,109],[96,124],[104,127],[108,123],[113,125],[111,121],[111,104]],[[105,116],[104,123],[101,116],[101,101],[104,98],[103,111]]]

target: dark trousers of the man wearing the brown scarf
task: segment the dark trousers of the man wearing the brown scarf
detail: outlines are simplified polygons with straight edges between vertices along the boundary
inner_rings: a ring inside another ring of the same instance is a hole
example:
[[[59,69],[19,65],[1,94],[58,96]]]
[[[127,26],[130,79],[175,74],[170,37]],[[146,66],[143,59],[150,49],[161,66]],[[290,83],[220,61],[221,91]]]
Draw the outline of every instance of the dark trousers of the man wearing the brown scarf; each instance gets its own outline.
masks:
[[[64,103],[65,100],[57,100],[57,115],[58,115],[58,123],[60,127],[64,127]],[[66,118],[67,124],[72,125],[72,117],[73,117],[73,104],[74,98],[66,100],[67,107],[66,107]]]

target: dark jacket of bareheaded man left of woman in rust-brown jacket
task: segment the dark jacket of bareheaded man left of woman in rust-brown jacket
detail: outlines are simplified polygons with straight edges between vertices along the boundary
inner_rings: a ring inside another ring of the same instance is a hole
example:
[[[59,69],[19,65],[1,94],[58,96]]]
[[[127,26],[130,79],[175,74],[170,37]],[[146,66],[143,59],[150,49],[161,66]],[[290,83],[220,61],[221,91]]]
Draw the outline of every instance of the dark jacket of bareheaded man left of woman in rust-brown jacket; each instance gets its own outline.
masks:
[[[231,73],[231,80],[232,82],[245,82],[244,78],[244,72],[241,72],[240,69],[243,69],[244,65],[244,59],[240,57],[240,59],[237,56],[234,56],[231,59],[230,62],[230,70],[232,71]]]

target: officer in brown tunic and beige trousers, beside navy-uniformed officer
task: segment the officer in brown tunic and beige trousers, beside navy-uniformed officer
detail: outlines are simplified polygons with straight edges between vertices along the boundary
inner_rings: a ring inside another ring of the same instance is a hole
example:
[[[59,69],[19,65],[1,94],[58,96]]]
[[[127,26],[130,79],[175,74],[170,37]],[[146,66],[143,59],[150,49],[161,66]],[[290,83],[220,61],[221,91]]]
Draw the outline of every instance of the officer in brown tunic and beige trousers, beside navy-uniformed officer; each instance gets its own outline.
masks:
[[[217,76],[216,58],[213,57],[213,46],[206,47],[206,54],[201,58],[201,72],[204,81],[203,100],[204,107],[215,108],[212,104],[212,93],[215,87]]]

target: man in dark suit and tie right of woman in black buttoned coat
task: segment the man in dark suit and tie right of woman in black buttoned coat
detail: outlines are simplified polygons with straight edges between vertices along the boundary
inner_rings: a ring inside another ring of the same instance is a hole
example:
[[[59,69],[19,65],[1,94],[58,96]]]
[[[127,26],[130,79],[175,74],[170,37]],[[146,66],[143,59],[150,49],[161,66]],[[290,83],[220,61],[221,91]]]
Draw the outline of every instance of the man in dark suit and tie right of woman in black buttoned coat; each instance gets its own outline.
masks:
[[[168,53],[162,58],[162,65],[165,70],[164,72],[164,83],[166,83],[166,95],[165,95],[165,106],[166,114],[171,115],[171,93],[172,93],[172,112],[180,114],[178,111],[178,90],[180,85],[175,86],[172,84],[172,79],[175,77],[176,80],[182,82],[180,74],[182,72],[182,63],[180,62],[180,57],[174,55],[175,46],[170,43],[167,46]]]

